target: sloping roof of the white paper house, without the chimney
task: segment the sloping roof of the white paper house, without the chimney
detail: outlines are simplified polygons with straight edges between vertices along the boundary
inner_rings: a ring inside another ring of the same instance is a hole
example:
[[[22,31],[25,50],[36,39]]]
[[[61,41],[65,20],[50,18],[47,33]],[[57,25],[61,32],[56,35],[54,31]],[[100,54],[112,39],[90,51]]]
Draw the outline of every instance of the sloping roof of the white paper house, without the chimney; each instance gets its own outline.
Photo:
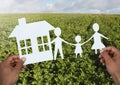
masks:
[[[49,24],[47,21],[39,21],[34,23],[28,23],[23,25],[17,25],[9,38],[17,37],[20,39],[27,39],[34,36],[44,36],[50,30],[54,30],[55,28]]]

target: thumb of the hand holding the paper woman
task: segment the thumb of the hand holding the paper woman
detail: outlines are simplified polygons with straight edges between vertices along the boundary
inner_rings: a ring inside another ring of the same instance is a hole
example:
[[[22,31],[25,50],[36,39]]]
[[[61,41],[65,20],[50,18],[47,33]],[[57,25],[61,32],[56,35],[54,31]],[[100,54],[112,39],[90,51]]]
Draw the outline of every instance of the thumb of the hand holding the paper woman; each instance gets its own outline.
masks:
[[[113,64],[113,60],[112,60],[111,56],[108,54],[108,52],[106,52],[106,51],[102,52],[101,56],[103,57],[104,63],[106,66],[110,66]]]

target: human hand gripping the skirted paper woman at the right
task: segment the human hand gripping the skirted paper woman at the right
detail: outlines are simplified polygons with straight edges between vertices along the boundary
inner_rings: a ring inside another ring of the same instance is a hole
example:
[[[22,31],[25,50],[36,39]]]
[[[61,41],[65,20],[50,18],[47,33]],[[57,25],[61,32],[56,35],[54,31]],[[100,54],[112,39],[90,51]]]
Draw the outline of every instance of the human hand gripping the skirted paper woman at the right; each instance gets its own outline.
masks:
[[[120,51],[113,46],[106,47],[99,55],[100,62],[106,66],[116,85],[120,85]]]

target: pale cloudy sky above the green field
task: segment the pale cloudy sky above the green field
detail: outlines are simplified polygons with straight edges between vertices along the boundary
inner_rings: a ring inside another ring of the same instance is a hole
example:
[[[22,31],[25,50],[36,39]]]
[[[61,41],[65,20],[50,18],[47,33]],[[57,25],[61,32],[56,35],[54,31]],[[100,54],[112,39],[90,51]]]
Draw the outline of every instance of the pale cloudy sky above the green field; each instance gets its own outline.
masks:
[[[120,14],[120,0],[0,0],[0,13]]]

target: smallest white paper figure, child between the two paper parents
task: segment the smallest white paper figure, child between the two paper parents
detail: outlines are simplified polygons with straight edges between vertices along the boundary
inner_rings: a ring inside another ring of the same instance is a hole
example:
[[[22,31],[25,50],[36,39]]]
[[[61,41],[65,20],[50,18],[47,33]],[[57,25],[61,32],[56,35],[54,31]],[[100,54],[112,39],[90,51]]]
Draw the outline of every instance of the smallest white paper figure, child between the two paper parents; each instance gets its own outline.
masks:
[[[84,43],[80,43],[81,41],[81,36],[77,35],[75,37],[75,41],[77,42],[77,44],[71,44],[71,45],[74,45],[76,48],[75,48],[75,54],[76,54],[76,58],[78,56],[78,54],[82,57],[82,53],[83,53],[83,50],[82,50],[82,45],[85,44],[86,42]]]

